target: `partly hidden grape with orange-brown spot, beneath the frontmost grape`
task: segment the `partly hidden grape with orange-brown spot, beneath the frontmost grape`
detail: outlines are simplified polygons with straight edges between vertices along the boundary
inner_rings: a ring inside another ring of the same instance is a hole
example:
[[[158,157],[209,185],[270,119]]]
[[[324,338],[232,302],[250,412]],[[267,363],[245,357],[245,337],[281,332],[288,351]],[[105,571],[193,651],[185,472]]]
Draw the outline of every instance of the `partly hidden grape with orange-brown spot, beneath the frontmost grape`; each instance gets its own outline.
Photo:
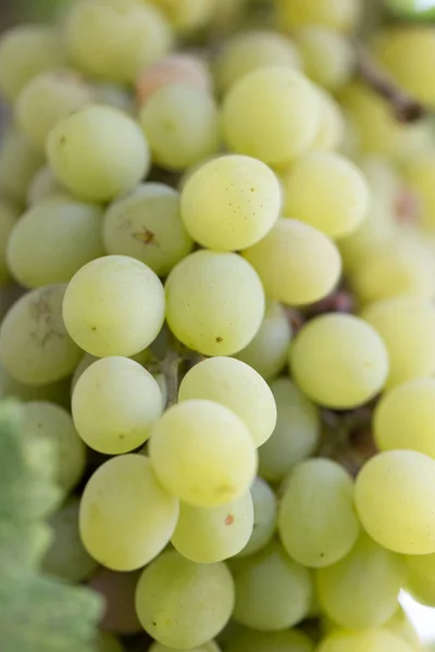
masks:
[[[248,491],[216,507],[195,507],[182,503],[171,541],[187,560],[198,564],[214,564],[240,552],[252,528],[253,504]]]

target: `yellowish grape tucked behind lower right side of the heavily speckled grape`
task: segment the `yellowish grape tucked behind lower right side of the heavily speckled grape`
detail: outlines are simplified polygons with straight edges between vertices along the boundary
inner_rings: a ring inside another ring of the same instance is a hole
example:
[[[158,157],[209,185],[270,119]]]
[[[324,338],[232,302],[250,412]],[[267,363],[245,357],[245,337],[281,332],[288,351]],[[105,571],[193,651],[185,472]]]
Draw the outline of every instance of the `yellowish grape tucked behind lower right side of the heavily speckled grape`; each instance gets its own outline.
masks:
[[[297,220],[279,218],[244,256],[257,269],[268,296],[289,305],[323,299],[341,273],[334,242]]]

